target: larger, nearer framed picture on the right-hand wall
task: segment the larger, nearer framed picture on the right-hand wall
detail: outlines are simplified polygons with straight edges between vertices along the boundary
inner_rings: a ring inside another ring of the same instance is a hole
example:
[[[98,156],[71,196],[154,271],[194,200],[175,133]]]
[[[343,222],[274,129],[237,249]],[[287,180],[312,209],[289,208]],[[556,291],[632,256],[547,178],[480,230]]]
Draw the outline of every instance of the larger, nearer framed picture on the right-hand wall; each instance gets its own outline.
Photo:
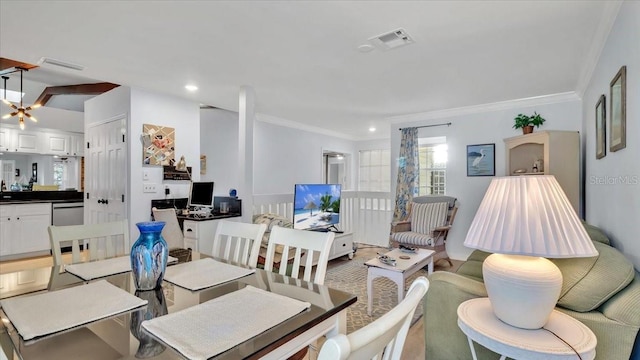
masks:
[[[627,67],[623,66],[611,80],[609,107],[609,150],[627,147]]]

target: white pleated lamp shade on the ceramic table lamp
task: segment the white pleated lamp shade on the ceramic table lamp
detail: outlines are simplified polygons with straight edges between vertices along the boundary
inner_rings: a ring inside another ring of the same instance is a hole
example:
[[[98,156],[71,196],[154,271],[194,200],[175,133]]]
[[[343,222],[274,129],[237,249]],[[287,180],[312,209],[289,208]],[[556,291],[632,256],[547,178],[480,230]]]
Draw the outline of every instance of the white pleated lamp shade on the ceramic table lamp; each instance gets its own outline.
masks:
[[[493,179],[464,245],[492,253],[546,258],[598,255],[552,175]]]

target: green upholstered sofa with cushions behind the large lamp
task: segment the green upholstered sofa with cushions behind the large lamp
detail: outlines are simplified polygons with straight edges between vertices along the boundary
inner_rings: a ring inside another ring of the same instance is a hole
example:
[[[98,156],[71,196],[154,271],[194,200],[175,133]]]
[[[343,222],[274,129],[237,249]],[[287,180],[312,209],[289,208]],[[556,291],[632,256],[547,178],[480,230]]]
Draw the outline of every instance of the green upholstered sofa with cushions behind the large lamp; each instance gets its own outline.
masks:
[[[596,335],[596,359],[629,359],[640,329],[640,275],[633,264],[609,244],[598,228],[584,224],[599,255],[592,258],[550,259],[562,272],[556,310],[587,325]],[[458,328],[462,302],[486,297],[482,262],[489,253],[474,251],[456,273],[437,271],[424,297],[426,358],[471,359],[467,337]],[[497,359],[474,344],[478,359]]]

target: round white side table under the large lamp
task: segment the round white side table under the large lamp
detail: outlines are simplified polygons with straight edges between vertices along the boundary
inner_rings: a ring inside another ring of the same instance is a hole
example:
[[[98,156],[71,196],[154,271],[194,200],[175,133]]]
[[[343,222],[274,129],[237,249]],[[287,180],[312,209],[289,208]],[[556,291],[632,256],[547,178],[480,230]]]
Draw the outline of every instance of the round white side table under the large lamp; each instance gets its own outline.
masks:
[[[526,311],[526,309],[523,309]],[[473,342],[512,359],[574,360],[576,353],[548,329],[564,339],[583,360],[596,356],[596,336],[580,321],[554,310],[544,329],[520,329],[502,322],[493,314],[489,298],[463,302],[458,307],[458,327],[467,335],[473,359]]]

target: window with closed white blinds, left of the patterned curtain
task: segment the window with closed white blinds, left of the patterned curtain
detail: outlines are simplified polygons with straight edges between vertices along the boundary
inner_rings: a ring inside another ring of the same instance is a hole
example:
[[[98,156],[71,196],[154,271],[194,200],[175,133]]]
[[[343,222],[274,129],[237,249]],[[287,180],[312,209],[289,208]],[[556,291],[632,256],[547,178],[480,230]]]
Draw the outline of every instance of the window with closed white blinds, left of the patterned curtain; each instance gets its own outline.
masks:
[[[389,149],[360,150],[359,191],[391,191]]]

